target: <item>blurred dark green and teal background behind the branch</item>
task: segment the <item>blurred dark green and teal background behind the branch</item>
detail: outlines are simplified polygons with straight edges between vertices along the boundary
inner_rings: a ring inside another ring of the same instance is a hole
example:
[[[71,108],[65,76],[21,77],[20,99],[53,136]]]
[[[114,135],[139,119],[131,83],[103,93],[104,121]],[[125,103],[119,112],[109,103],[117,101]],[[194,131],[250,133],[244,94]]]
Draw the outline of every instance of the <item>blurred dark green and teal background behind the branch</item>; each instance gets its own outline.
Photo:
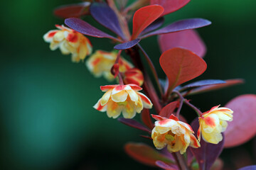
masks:
[[[79,1],[1,1],[0,169],[154,169],[124,153],[128,141],[152,146],[139,137],[143,132],[92,108],[102,96],[99,86],[109,83],[95,79],[84,63],[74,64],[69,55],[50,51],[43,41],[56,23],[63,24],[53,16],[53,8],[75,2]],[[208,47],[208,69],[198,80],[245,79],[242,85],[191,96],[201,111],[225,106],[241,94],[255,94],[255,7],[253,0],[193,0],[166,16],[166,23],[182,18],[212,21],[198,29]],[[112,50],[107,39],[90,40],[94,50]],[[160,70],[156,37],[141,44]],[[245,155],[245,164],[255,164],[254,143],[225,149],[225,166],[241,166],[235,165],[238,153]]]

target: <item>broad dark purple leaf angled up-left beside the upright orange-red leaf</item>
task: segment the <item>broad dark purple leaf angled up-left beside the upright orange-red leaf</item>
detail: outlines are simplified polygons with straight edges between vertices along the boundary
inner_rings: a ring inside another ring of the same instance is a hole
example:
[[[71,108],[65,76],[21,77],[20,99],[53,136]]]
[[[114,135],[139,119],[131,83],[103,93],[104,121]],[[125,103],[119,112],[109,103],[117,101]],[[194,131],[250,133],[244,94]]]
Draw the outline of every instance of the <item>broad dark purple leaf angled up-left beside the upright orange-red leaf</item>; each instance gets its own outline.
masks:
[[[124,34],[122,33],[122,29],[119,25],[117,15],[114,13],[112,8],[110,8],[110,6],[107,6],[105,3],[93,3],[90,6],[90,13],[98,23],[102,24],[102,26],[105,26],[106,28],[109,28],[124,39]]]

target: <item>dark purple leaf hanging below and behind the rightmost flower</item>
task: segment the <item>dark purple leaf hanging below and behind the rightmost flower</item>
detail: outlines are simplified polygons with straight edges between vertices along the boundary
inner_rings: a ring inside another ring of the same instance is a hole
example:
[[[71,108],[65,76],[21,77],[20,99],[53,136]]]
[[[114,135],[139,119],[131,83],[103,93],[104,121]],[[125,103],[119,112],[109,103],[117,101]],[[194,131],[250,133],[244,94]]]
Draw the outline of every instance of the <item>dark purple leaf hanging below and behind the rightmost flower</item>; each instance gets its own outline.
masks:
[[[191,128],[197,132],[199,128],[198,118],[193,120],[191,123]],[[201,139],[199,148],[190,147],[193,155],[196,157],[196,160],[199,164],[200,169],[208,170],[213,165],[215,160],[220,156],[220,153],[223,150],[224,139],[220,141],[217,145],[205,142]]]

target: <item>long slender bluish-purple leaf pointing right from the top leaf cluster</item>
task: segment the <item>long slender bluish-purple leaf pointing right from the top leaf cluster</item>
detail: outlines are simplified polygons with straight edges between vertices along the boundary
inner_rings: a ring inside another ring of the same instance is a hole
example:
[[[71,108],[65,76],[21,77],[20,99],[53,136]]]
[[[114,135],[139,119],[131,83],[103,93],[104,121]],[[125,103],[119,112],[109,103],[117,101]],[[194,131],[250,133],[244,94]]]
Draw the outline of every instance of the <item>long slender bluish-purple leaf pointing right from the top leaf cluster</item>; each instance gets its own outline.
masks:
[[[181,30],[191,30],[195,28],[201,28],[204,26],[209,26],[211,24],[210,21],[203,19],[203,18],[191,18],[185,19],[181,21],[176,21],[175,23],[171,23],[169,26],[161,28],[159,30],[155,30],[151,33],[143,35],[142,38],[147,38],[152,35],[159,35],[164,33],[174,33]]]

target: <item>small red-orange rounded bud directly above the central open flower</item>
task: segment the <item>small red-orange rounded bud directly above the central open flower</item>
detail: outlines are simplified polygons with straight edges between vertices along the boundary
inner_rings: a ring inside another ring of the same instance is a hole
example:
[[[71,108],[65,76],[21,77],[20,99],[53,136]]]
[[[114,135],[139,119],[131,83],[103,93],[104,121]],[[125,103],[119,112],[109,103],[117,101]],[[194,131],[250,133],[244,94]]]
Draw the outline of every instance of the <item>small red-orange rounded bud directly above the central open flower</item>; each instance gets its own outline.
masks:
[[[144,77],[142,71],[137,68],[128,69],[123,74],[124,84],[137,84],[142,86],[144,83]]]

